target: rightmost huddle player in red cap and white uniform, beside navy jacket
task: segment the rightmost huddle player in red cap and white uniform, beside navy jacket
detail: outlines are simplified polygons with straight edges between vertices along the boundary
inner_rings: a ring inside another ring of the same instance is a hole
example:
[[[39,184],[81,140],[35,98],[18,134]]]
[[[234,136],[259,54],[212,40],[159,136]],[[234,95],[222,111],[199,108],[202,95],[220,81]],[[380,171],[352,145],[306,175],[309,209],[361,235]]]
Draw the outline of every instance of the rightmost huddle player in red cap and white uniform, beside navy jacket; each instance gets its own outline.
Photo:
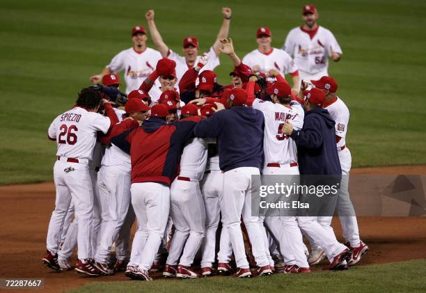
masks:
[[[338,212],[340,214],[340,223],[345,241],[349,243],[352,250],[352,256],[348,261],[352,266],[361,260],[361,257],[367,253],[368,246],[361,241],[359,237],[358,223],[356,221],[355,210],[349,198],[349,171],[351,169],[352,157],[349,148],[346,146],[347,126],[349,124],[349,109],[346,104],[336,95],[338,84],[333,77],[321,77],[317,81],[311,81],[316,88],[324,91],[324,109],[329,111],[331,118],[336,122],[336,143],[342,168],[342,184],[338,198]],[[331,216],[318,217],[318,223],[324,226],[331,224]],[[311,243],[313,251],[320,249],[317,244]],[[320,253],[321,251],[319,251]]]

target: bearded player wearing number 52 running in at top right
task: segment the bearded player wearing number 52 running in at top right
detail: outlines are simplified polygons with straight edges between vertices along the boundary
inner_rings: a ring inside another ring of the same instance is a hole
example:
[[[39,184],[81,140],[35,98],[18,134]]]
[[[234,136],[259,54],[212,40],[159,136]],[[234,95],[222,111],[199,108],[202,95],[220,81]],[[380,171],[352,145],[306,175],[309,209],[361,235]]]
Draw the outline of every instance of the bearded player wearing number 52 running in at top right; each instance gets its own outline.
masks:
[[[283,50],[294,58],[299,68],[299,81],[316,80],[329,75],[329,57],[338,62],[342,49],[333,33],[317,24],[318,12],[315,6],[303,6],[302,13],[303,26],[288,33]]]

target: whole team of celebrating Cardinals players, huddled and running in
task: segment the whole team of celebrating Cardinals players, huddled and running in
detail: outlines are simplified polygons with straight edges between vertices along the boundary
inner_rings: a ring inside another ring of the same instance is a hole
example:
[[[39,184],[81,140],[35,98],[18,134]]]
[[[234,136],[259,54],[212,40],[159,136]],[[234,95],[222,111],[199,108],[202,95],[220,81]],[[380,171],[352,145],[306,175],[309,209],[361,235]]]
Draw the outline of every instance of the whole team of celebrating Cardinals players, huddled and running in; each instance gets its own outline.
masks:
[[[88,276],[125,271],[135,280],[152,280],[157,271],[166,278],[248,278],[310,273],[324,259],[331,270],[347,269],[368,251],[345,176],[352,162],[345,144],[349,110],[327,72],[329,58],[342,54],[333,33],[317,24],[314,6],[303,6],[304,24],[282,49],[271,47],[263,26],[258,49],[241,59],[228,38],[231,10],[222,13],[212,47],[198,55],[198,40],[189,36],[180,56],[149,10],[158,51],[146,46],[144,27],[135,26],[133,47],[90,77],[96,85],[53,120],[56,206],[42,258],[48,267]],[[221,54],[234,65],[226,86],[213,71]],[[253,214],[259,190],[253,175],[341,176],[333,210],[346,243],[336,239],[332,214]]]

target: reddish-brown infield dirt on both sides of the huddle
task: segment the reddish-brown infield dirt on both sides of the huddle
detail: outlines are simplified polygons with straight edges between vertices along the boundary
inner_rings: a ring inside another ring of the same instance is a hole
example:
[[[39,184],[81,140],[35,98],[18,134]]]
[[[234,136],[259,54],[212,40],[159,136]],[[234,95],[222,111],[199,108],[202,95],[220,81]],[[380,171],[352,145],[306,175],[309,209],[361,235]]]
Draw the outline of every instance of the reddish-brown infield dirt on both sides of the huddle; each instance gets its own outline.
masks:
[[[355,174],[426,174],[426,166],[359,168]],[[128,280],[124,274],[84,278],[74,272],[55,273],[42,266],[47,224],[54,209],[54,184],[0,187],[0,278],[45,278],[45,290],[58,292],[93,281]],[[370,246],[361,265],[426,258],[426,217],[363,217],[362,239]],[[333,221],[341,235],[338,221]]]

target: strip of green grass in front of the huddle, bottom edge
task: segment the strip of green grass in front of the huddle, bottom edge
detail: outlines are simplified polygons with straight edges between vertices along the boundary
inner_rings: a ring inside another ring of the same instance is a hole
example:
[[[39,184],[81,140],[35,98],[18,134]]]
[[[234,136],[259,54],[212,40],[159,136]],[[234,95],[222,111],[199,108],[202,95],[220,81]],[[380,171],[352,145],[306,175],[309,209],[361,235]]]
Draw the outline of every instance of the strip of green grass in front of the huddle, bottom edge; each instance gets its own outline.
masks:
[[[155,280],[95,282],[70,292],[425,292],[426,260],[394,262],[348,271],[320,271],[239,280]]]

